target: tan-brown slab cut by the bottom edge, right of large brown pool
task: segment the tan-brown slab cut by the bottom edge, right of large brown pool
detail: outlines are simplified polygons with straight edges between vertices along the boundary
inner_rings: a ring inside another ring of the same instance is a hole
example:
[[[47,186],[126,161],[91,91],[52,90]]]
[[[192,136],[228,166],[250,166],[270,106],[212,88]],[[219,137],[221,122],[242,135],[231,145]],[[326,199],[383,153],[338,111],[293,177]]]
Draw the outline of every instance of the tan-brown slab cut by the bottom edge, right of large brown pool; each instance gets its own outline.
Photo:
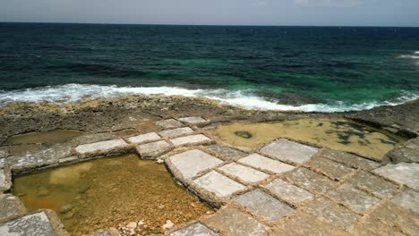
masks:
[[[269,230],[267,225],[258,222],[252,215],[231,207],[218,211],[202,222],[230,236],[261,236]]]

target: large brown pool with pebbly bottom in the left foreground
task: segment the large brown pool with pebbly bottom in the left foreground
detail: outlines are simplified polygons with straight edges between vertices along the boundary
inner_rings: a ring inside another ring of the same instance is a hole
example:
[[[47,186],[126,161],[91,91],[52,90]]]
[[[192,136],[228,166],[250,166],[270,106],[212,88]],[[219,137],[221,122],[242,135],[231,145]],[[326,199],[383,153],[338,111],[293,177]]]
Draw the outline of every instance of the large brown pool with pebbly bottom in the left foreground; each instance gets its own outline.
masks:
[[[56,211],[73,235],[143,221],[138,234],[164,232],[212,212],[172,178],[164,164],[136,155],[100,158],[14,178],[29,210]]]

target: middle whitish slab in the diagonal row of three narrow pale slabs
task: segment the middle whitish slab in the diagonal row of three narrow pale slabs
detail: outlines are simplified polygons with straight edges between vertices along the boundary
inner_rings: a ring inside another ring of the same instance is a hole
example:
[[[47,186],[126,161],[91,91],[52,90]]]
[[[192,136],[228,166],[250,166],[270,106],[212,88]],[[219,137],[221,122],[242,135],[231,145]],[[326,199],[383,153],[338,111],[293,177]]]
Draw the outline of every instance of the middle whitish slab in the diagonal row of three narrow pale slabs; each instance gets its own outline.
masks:
[[[223,165],[219,168],[219,170],[225,173],[231,174],[244,182],[263,181],[264,179],[269,177],[269,174],[267,173],[262,173],[251,167],[247,167],[242,164],[236,164],[236,163]]]

